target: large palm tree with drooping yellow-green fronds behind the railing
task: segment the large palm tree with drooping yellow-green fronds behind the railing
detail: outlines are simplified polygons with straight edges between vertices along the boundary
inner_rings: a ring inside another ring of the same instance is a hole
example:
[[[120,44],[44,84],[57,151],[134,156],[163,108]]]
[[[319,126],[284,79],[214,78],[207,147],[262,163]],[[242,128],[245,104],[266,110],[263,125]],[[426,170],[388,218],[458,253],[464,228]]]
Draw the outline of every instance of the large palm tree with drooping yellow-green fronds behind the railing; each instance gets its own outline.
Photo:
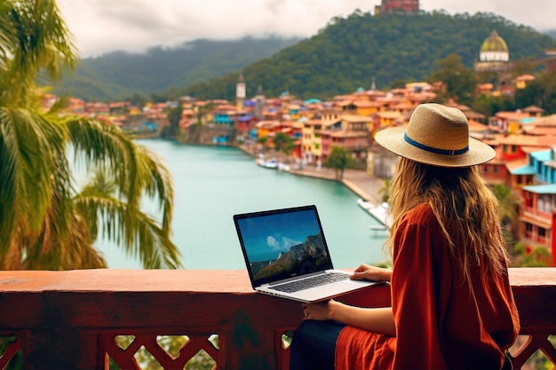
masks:
[[[76,60],[54,0],[0,3],[0,268],[102,267],[101,235],[146,268],[179,267],[162,162],[115,126],[67,114],[66,98],[41,104],[39,72],[55,79]],[[89,176],[78,182],[79,168]]]

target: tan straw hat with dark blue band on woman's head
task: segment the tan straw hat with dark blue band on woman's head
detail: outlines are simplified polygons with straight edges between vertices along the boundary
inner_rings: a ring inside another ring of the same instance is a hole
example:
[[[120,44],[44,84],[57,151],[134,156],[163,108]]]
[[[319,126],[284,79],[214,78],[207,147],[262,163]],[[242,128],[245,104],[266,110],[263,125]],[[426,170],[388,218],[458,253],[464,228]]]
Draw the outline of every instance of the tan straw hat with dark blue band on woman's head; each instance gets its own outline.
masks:
[[[375,140],[394,154],[438,167],[473,166],[496,155],[469,137],[469,122],[459,109],[435,103],[417,106],[407,127],[381,130]]]

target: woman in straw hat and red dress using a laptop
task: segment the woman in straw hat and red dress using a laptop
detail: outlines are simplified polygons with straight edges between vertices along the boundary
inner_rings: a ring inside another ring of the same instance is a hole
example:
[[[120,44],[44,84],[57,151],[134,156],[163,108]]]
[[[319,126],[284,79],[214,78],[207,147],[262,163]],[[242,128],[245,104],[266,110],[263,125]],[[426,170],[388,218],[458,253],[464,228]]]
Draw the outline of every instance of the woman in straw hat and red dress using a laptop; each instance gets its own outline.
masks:
[[[494,150],[469,138],[461,111],[438,104],[376,140],[401,156],[386,240],[393,269],[363,264],[352,279],[390,281],[392,307],[302,304],[290,369],[503,368],[520,324],[497,201],[477,166]]]

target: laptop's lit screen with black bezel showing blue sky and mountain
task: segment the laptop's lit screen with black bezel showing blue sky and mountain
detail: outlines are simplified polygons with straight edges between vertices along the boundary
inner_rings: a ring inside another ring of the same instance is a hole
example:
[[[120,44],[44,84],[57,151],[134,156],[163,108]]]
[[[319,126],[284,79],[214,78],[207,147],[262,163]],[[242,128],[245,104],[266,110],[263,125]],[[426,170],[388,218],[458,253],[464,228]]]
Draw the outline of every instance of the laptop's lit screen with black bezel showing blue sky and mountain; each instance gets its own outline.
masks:
[[[253,287],[332,268],[314,206],[234,216]]]

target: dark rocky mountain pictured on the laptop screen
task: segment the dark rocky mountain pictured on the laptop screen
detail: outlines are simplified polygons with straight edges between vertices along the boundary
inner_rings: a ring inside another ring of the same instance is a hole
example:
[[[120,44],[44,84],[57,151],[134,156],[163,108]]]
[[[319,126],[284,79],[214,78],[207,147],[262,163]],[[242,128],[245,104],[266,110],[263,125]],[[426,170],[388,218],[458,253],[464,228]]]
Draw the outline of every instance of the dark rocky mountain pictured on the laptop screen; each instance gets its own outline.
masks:
[[[330,264],[324,248],[322,233],[311,235],[286,253],[281,252],[274,261],[266,261],[253,266],[254,279],[287,279],[302,273],[314,272],[318,266]]]

